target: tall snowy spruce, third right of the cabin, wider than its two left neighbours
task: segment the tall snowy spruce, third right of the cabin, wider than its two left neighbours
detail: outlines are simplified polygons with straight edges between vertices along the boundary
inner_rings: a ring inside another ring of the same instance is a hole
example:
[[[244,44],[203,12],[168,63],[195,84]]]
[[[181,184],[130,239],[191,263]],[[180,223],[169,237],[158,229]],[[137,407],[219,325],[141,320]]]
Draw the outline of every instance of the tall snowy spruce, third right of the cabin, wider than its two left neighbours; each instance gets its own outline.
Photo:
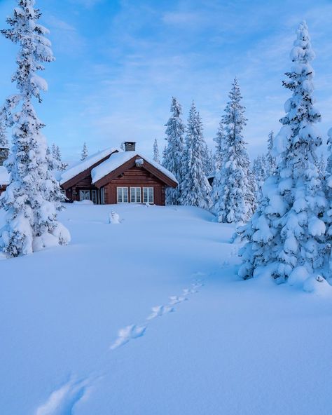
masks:
[[[214,178],[214,213],[219,222],[247,222],[256,209],[256,183],[242,130],[246,125],[245,108],[237,79],[229,93],[230,101],[222,116],[223,137],[221,170]]]

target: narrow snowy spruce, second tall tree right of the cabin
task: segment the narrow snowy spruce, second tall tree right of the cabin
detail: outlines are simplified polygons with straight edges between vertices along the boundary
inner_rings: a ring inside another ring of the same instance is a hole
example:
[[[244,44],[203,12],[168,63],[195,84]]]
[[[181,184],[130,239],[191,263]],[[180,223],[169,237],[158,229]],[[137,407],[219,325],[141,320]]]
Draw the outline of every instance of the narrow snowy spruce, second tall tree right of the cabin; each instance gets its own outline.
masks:
[[[184,179],[181,182],[181,205],[191,205],[209,210],[211,186],[205,174],[206,144],[200,114],[191,105],[186,129],[184,151]]]

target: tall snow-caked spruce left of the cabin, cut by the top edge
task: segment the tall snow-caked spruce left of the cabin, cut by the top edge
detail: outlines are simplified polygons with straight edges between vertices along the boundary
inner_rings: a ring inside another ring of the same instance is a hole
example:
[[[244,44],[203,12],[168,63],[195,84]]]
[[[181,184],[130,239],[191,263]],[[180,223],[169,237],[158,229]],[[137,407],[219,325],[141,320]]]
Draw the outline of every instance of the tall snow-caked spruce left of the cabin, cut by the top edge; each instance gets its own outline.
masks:
[[[62,194],[48,169],[47,144],[41,134],[44,125],[32,102],[34,97],[41,102],[41,90],[47,89],[37,72],[43,69],[43,62],[54,60],[45,37],[48,30],[38,24],[40,16],[34,0],[18,0],[13,17],[7,19],[9,29],[1,31],[20,46],[18,69],[13,75],[20,93],[8,98],[11,104],[7,102],[7,107],[21,105],[8,117],[13,125],[11,156],[6,162],[11,181],[0,198],[0,206],[7,211],[6,225],[0,230],[0,249],[10,257],[70,240],[67,229],[57,222]]]

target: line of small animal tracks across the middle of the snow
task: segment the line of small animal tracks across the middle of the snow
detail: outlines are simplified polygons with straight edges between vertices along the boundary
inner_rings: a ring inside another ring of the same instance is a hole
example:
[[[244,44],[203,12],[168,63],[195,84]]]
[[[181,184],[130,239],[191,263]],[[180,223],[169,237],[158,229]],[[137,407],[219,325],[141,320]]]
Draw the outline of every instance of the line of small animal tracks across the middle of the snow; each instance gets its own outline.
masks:
[[[148,315],[144,324],[129,325],[127,327],[123,327],[123,329],[120,329],[118,331],[118,337],[116,338],[116,341],[114,341],[114,343],[111,344],[110,349],[113,351],[116,348],[128,343],[128,341],[132,339],[137,339],[138,337],[144,336],[146,332],[146,328],[148,327],[148,324],[151,322],[151,320],[154,320],[155,318],[158,318],[158,317],[162,317],[162,315],[165,315],[168,313],[174,313],[175,311],[174,306],[177,306],[183,301],[188,301],[189,296],[199,292],[199,288],[204,285],[202,281],[202,277],[204,275],[205,274],[203,273],[195,273],[193,275],[193,277],[195,277],[195,280],[193,280],[191,287],[185,288],[184,290],[182,290],[181,295],[179,296],[172,295],[169,297],[170,299],[169,303],[165,305],[161,305],[161,306],[152,307],[151,314]]]

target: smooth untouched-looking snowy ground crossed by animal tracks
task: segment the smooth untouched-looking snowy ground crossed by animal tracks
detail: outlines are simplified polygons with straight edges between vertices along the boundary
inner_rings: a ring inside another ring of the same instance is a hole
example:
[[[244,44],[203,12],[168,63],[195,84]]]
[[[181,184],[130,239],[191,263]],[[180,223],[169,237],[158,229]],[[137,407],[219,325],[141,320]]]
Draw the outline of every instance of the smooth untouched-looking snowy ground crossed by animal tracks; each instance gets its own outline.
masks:
[[[238,280],[202,210],[61,217],[71,245],[0,261],[1,414],[331,414],[331,297]]]

